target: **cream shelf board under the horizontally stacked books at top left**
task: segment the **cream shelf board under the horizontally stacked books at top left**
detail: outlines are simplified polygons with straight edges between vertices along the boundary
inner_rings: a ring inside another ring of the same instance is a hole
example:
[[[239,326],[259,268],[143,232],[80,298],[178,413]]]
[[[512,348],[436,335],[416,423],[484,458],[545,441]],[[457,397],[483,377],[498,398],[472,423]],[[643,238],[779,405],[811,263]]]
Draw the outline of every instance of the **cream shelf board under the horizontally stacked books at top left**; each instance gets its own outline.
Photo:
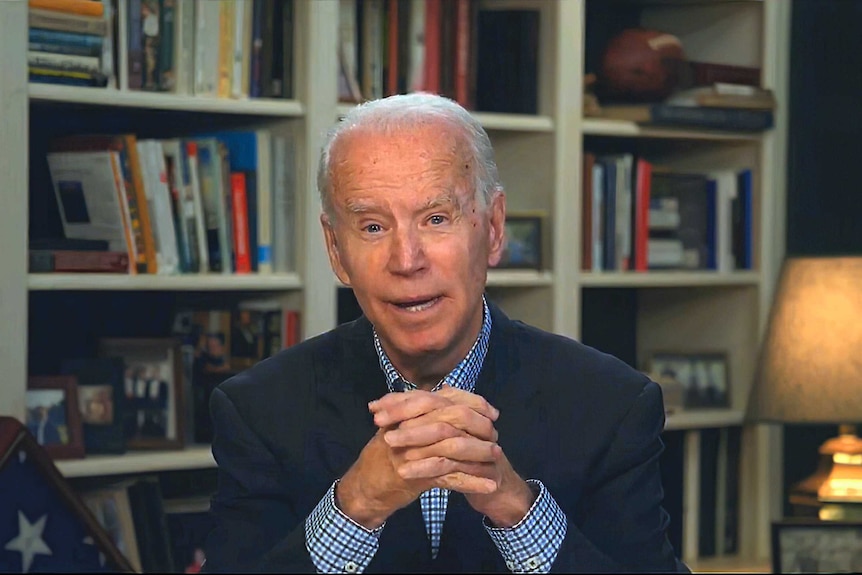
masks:
[[[230,98],[126,91],[109,88],[84,88],[40,83],[31,83],[29,85],[29,94],[31,102],[58,102],[87,106],[252,116],[297,117],[305,113],[304,106],[295,100],[264,98],[233,100]]]

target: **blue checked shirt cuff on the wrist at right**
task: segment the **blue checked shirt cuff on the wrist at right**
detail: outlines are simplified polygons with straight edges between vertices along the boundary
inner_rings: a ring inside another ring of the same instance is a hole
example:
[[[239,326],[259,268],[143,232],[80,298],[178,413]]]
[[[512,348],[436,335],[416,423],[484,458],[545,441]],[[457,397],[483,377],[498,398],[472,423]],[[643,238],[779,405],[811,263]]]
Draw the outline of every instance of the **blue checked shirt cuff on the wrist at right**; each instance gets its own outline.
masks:
[[[483,521],[488,535],[512,573],[547,573],[566,537],[566,514],[541,481],[527,480],[539,492],[527,515],[512,527],[493,527]]]

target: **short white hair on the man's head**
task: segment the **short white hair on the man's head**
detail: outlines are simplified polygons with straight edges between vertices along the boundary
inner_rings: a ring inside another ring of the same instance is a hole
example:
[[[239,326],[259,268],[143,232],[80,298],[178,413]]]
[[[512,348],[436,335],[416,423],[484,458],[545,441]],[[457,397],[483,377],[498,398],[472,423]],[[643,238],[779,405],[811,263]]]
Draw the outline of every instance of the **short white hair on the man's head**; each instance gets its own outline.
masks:
[[[453,126],[465,137],[476,169],[473,171],[475,199],[485,209],[495,193],[502,191],[494,161],[494,148],[487,132],[470,112],[458,103],[424,92],[399,94],[371,100],[350,110],[326,135],[317,170],[317,190],[323,210],[334,221],[332,209],[332,148],[345,133],[366,128],[378,133],[391,133],[429,121],[441,121]]]

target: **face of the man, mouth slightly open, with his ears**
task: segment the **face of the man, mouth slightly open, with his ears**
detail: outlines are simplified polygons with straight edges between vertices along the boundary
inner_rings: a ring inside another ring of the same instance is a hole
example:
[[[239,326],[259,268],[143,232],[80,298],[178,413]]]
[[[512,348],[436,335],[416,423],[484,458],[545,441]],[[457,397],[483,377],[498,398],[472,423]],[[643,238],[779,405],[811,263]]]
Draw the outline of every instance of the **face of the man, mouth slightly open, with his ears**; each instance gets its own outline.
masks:
[[[330,261],[396,364],[429,353],[457,361],[481,325],[505,198],[477,204],[477,166],[465,151],[440,123],[387,135],[358,129],[333,151],[335,222],[322,218]]]

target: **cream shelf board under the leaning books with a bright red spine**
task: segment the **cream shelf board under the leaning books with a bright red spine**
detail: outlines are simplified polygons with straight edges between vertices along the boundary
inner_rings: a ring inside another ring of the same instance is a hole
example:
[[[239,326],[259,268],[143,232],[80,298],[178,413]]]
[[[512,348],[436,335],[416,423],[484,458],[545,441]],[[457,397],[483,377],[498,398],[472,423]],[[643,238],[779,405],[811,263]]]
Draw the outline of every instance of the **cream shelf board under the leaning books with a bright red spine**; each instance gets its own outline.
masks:
[[[30,274],[27,277],[27,286],[31,291],[269,291],[300,289],[302,288],[302,280],[297,274],[160,276],[44,273]]]

